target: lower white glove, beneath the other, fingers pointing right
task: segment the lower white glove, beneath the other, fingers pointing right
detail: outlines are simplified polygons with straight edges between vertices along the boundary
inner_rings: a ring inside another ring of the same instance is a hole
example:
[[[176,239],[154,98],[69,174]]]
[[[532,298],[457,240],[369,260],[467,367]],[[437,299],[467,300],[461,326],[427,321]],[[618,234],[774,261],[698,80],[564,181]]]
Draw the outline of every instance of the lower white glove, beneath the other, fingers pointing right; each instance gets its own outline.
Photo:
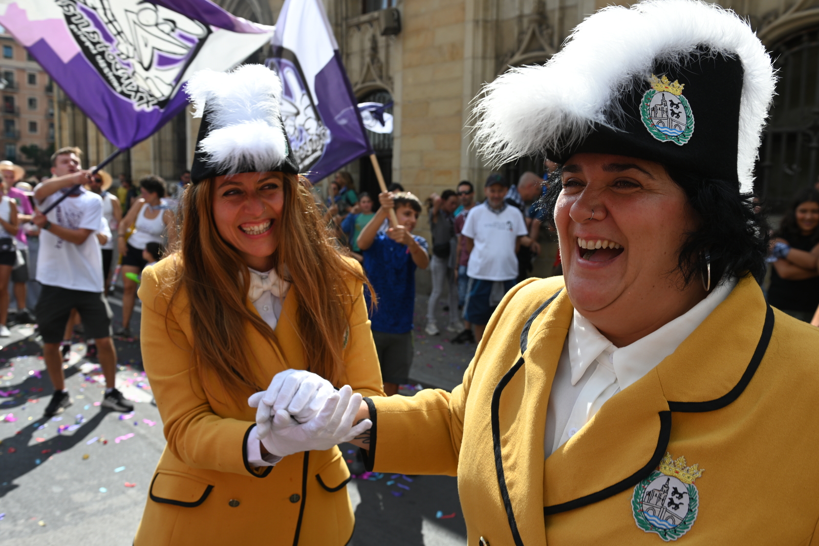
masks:
[[[319,414],[310,421],[296,423],[286,410],[279,409],[269,433],[261,435],[257,430],[256,434],[265,449],[278,457],[301,451],[324,451],[352,440],[373,426],[369,419],[352,426],[360,407],[360,393],[353,394],[351,386],[345,385],[328,397]]]

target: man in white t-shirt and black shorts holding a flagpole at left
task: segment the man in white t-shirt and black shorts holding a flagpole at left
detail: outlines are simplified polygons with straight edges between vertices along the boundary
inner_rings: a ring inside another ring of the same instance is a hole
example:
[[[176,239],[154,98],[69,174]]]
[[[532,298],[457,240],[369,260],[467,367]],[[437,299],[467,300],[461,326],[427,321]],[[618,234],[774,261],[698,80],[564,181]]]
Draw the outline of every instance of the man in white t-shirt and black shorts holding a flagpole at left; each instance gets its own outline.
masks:
[[[77,309],[85,335],[97,342],[97,354],[106,378],[102,406],[127,412],[133,404],[115,388],[116,350],[111,340],[111,308],[102,293],[102,253],[94,233],[102,228],[102,198],[77,184],[88,183],[89,171],[79,169],[79,148],[61,148],[52,156],[54,178],[34,188],[38,210],[32,220],[40,228],[37,280],[43,291],[36,314],[43,336],[43,355],[54,386],[44,415],[51,417],[71,405],[62,371],[60,341],[71,314]],[[41,210],[63,199],[43,215]]]

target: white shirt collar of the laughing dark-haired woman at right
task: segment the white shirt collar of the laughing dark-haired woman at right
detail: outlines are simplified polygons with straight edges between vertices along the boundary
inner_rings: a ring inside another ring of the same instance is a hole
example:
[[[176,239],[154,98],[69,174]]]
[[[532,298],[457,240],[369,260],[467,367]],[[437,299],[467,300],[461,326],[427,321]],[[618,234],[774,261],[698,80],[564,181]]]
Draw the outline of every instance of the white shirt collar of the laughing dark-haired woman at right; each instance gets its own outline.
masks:
[[[572,385],[580,381],[586,369],[604,350],[611,354],[610,359],[620,390],[636,383],[672,354],[682,341],[690,336],[714,309],[717,309],[717,305],[731,294],[736,282],[736,278],[721,282],[704,300],[685,314],[664,324],[648,336],[619,349],[575,309],[574,319],[568,329],[568,358],[572,368]]]

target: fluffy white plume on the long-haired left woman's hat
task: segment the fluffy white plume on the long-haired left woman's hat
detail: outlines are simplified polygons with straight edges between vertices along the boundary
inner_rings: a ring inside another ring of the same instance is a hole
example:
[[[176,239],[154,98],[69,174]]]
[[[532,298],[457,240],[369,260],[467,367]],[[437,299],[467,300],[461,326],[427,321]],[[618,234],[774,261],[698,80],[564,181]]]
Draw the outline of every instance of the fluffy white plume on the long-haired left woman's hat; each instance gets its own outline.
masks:
[[[207,113],[210,131],[198,151],[226,174],[258,171],[281,164],[287,138],[279,102],[282,83],[264,65],[242,65],[233,72],[199,70],[185,85],[193,117]]]

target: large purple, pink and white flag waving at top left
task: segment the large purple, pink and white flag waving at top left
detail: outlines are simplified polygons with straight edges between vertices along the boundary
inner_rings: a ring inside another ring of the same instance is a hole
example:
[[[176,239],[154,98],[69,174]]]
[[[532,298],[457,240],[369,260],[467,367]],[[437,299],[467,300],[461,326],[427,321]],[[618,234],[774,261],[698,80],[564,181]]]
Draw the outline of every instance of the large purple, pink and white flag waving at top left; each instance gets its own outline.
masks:
[[[5,0],[0,25],[120,149],[183,110],[191,74],[233,68],[274,32],[210,0]]]

